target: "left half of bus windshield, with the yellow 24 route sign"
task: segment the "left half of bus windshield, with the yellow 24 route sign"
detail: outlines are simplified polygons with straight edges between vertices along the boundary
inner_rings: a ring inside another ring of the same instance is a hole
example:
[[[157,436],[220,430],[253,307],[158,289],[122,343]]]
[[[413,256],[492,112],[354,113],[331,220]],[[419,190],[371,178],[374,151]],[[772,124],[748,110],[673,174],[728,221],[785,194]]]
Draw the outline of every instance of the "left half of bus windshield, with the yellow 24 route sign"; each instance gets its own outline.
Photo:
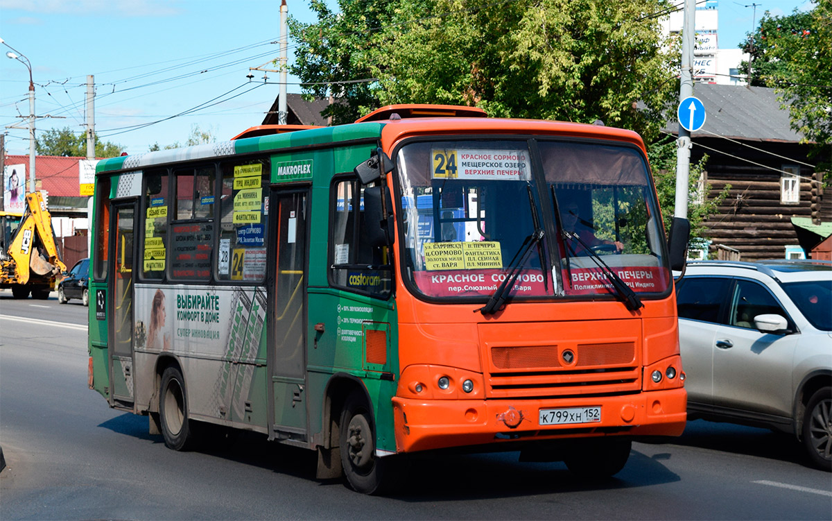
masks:
[[[416,142],[399,152],[405,271],[434,298],[554,295],[544,209],[526,141]]]

